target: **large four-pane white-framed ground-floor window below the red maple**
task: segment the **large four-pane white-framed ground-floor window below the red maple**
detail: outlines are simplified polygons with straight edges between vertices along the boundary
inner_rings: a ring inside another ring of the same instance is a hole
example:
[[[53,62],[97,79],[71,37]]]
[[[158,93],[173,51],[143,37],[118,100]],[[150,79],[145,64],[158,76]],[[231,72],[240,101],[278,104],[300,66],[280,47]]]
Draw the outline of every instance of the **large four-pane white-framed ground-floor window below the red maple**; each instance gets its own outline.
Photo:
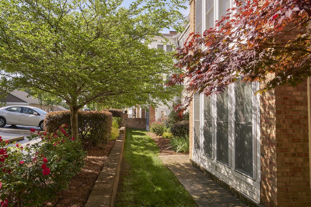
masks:
[[[193,99],[193,150],[220,168],[260,178],[259,84],[238,81]]]

